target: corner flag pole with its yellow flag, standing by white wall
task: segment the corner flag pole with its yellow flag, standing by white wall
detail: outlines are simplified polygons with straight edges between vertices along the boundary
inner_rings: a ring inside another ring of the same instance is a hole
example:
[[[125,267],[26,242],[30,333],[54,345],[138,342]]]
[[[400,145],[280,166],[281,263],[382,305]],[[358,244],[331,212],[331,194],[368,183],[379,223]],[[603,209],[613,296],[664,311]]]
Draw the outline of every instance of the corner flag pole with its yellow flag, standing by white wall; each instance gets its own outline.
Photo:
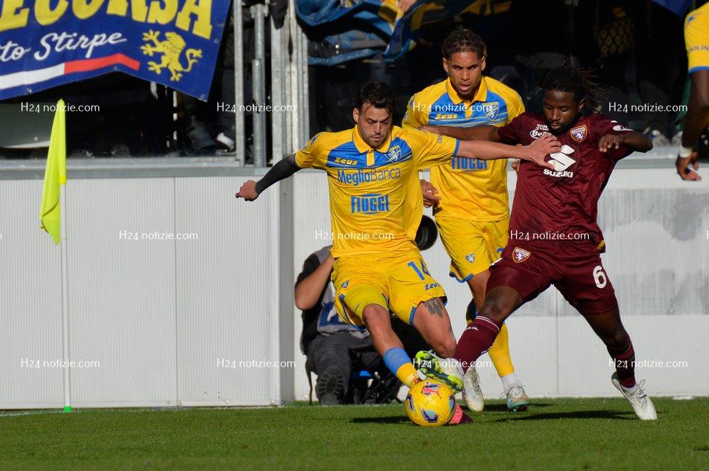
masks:
[[[47,167],[42,190],[40,220],[42,229],[60,246],[62,260],[62,360],[64,370],[64,410],[72,410],[69,389],[69,300],[67,297],[67,218],[62,217],[62,207],[67,207],[65,185],[67,183],[67,132],[64,101],[57,101],[52,123],[52,136],[47,154]],[[60,244],[60,241],[64,244]]]

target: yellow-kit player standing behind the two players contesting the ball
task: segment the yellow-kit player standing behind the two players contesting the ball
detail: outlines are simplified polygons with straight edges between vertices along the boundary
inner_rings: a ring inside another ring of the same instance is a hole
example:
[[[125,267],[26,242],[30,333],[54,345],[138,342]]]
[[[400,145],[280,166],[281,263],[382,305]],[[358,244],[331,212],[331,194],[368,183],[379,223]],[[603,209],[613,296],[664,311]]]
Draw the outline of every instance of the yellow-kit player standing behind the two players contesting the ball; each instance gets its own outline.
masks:
[[[442,55],[448,78],[411,98],[403,127],[425,126],[435,132],[435,126],[503,126],[524,112],[516,91],[483,76],[487,50],[479,35],[468,29],[454,30],[443,42]],[[488,268],[507,245],[507,160],[455,157],[431,169],[431,183],[422,181],[426,205],[435,205],[441,241],[451,258],[450,275],[467,283],[473,295],[466,313],[471,324],[485,299]],[[489,354],[502,380],[508,409],[526,410],[530,399],[515,374],[505,325]],[[466,404],[481,412],[484,399],[475,368],[467,370],[464,380]]]

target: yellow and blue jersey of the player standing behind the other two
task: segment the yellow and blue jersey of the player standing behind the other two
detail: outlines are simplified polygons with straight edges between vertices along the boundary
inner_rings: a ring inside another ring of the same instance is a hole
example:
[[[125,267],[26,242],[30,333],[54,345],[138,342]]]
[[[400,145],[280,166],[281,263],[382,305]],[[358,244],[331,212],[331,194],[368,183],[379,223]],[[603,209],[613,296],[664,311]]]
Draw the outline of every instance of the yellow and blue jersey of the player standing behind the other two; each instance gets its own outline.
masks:
[[[472,101],[464,101],[450,79],[429,86],[411,97],[403,127],[503,126],[525,110],[516,91],[484,76]],[[507,160],[455,157],[431,169],[431,183],[441,200],[435,215],[473,221],[498,221],[508,217]]]

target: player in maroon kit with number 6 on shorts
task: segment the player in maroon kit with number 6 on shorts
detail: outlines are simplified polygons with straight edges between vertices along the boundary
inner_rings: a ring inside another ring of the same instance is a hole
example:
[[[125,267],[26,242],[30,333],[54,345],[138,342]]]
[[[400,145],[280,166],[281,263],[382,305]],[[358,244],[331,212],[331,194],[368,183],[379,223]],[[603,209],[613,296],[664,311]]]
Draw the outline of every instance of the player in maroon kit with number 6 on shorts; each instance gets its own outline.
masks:
[[[647,152],[652,142],[610,118],[584,113],[596,108],[598,89],[572,67],[553,69],[545,79],[544,114],[523,113],[503,127],[441,128],[463,139],[529,144],[552,134],[561,152],[547,159],[554,170],[524,162],[518,169],[510,238],[491,266],[479,316],[462,334],[454,364],[433,360],[430,374],[445,379],[489,350],[502,323],[518,307],[554,285],[591,324],[615,361],[613,385],[640,419],[657,418],[652,401],[635,382],[635,351],[620,322],[613,285],[603,269],[603,234],[596,222],[598,198],[619,159]]]

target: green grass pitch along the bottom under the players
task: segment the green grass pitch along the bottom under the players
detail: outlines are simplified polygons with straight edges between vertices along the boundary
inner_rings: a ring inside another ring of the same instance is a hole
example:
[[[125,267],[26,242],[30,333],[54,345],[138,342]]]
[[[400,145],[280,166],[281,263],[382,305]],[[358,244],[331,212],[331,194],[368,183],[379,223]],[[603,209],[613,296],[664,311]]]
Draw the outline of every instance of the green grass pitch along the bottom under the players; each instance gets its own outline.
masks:
[[[423,429],[400,404],[0,413],[0,469],[709,470],[709,398],[536,399]]]

